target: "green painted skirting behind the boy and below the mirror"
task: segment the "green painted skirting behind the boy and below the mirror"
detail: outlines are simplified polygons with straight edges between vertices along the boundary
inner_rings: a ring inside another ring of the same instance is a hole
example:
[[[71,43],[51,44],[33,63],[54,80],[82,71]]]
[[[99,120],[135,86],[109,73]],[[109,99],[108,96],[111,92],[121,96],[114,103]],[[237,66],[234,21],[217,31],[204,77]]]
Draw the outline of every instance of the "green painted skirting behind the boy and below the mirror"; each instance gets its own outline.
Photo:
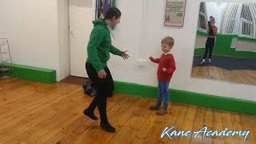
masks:
[[[158,89],[128,82],[114,82],[115,91],[145,98],[157,98]],[[236,98],[227,98],[210,94],[198,94],[185,90],[169,90],[171,102],[181,102],[196,106],[206,106],[218,110],[230,110],[256,115],[256,102]]]

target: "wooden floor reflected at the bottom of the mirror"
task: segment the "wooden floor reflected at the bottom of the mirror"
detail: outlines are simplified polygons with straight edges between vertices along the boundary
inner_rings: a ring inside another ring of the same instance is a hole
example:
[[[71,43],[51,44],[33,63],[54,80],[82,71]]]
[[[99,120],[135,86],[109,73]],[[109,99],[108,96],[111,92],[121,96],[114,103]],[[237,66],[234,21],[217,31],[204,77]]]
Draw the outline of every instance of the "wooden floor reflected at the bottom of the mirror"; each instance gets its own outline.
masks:
[[[194,66],[192,77],[256,85],[256,70],[226,70],[216,66]]]

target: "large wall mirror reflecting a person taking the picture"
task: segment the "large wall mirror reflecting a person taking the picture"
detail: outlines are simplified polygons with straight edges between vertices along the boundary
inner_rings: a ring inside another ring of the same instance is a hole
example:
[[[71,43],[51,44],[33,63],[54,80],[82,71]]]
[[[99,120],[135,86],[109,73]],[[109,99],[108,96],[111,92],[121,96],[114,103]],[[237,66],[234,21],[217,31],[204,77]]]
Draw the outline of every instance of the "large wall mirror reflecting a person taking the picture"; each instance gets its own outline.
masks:
[[[200,3],[192,77],[256,84],[256,3]]]

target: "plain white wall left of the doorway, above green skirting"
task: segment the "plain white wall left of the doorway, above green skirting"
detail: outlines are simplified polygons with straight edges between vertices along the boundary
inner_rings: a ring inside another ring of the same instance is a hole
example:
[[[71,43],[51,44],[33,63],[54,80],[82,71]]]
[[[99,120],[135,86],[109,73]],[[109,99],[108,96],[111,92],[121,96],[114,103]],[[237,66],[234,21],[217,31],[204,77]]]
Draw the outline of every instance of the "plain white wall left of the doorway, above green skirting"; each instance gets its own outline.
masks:
[[[62,23],[66,22],[64,14],[67,12],[66,7],[63,7],[65,2],[66,0],[58,3],[57,0],[0,1],[0,38],[10,40],[14,63],[57,70],[58,80],[68,73],[68,66],[61,66],[60,63],[66,62],[62,60],[68,55],[68,51],[64,52],[67,36],[62,35],[66,34],[66,31],[62,32],[66,30],[66,23]],[[60,5],[58,10],[57,4]],[[63,13],[58,14],[57,11]],[[58,20],[61,22],[58,23]]]

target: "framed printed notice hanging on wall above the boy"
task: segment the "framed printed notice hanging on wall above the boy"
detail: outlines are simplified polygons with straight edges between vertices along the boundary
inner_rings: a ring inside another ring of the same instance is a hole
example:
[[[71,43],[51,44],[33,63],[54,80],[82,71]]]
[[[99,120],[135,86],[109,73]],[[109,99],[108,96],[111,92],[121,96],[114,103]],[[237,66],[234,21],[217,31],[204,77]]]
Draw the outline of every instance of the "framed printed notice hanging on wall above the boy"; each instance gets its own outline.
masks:
[[[183,26],[186,0],[166,0],[165,26]]]

